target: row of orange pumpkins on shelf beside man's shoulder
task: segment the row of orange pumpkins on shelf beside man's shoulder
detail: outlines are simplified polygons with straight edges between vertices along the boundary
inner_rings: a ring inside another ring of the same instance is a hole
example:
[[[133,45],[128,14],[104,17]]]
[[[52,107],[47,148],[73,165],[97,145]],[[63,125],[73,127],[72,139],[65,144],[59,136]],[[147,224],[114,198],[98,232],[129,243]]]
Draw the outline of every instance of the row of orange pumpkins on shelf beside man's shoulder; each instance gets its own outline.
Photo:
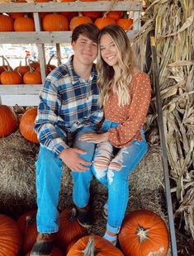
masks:
[[[40,73],[40,63],[37,61],[32,61],[26,57],[26,64],[19,65],[15,69],[12,69],[7,59],[2,57],[2,66],[0,66],[0,83],[2,84],[40,84],[42,83],[41,73]],[[52,55],[46,64],[46,75],[48,75],[53,69],[56,68],[55,65],[50,64],[51,59],[54,57]],[[6,62],[6,64],[5,64]]]

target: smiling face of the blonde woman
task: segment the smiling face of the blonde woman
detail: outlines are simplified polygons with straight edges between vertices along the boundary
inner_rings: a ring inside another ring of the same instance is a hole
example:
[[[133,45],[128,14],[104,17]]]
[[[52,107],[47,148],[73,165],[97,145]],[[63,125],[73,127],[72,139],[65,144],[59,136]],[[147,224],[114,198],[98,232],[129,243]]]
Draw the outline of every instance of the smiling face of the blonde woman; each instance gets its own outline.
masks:
[[[100,40],[102,59],[111,67],[118,66],[118,50],[111,36],[104,34]]]

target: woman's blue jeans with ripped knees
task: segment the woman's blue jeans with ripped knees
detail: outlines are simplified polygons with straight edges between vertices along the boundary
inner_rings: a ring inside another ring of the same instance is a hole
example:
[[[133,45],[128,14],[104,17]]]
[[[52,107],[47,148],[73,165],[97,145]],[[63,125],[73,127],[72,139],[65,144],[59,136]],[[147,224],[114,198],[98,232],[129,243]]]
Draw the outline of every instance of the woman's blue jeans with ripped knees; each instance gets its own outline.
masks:
[[[102,130],[118,126],[104,121]],[[106,229],[119,233],[129,199],[129,176],[148,150],[144,130],[140,130],[143,140],[134,140],[131,145],[116,149],[108,141],[99,143],[94,154],[92,173],[108,189],[108,218]],[[143,172],[144,170],[142,170]]]

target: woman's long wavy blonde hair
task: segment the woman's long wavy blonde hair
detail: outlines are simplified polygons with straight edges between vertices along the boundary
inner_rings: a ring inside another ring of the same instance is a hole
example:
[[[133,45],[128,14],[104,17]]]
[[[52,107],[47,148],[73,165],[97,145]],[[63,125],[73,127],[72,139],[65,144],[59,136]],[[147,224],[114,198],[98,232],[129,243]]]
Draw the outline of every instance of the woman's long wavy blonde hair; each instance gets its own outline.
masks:
[[[114,81],[114,69],[102,59],[100,41],[103,35],[111,36],[118,51],[118,64],[121,76]],[[134,54],[130,47],[130,40],[125,31],[118,25],[105,26],[98,36],[97,72],[98,86],[100,88],[99,103],[103,106],[111,93],[112,83],[116,83],[119,106],[130,103],[130,82],[132,71],[135,68]]]

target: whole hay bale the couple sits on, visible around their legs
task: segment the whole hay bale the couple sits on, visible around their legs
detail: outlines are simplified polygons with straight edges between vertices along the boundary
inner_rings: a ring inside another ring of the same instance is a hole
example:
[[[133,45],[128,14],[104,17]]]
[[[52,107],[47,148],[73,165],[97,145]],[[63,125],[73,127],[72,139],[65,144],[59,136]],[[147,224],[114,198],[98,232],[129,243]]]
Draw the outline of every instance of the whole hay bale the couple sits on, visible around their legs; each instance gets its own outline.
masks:
[[[0,211],[17,218],[36,207],[35,158],[39,145],[25,140],[19,131],[0,140]],[[127,211],[146,208],[163,216],[163,168],[159,147],[149,148],[130,175],[130,200]],[[59,197],[59,211],[73,206],[73,181],[68,168],[64,167]],[[106,187],[95,178],[91,184],[94,228],[102,235],[106,221],[102,218],[102,206],[106,202]],[[94,230],[92,230],[94,231]]]

